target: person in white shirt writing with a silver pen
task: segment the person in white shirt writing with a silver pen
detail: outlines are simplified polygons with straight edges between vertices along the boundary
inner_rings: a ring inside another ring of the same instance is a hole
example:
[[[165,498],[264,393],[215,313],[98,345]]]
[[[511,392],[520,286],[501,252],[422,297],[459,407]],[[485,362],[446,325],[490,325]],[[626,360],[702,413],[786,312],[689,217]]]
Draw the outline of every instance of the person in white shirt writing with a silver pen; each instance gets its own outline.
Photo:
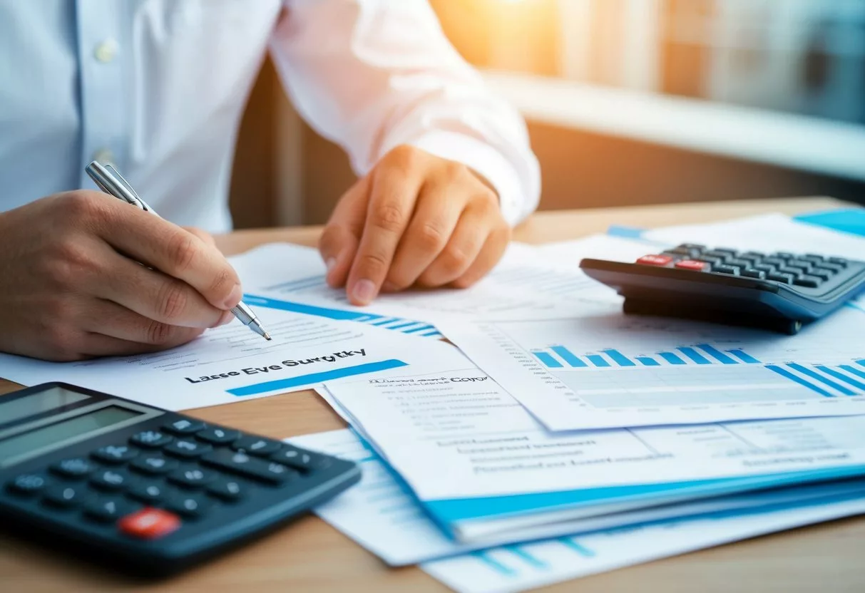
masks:
[[[230,229],[266,51],[361,175],[321,238],[328,283],[362,305],[490,271],[538,167],[426,0],[0,0],[0,350],[138,354],[232,321],[240,280],[208,233]],[[163,219],[99,193],[91,160]]]

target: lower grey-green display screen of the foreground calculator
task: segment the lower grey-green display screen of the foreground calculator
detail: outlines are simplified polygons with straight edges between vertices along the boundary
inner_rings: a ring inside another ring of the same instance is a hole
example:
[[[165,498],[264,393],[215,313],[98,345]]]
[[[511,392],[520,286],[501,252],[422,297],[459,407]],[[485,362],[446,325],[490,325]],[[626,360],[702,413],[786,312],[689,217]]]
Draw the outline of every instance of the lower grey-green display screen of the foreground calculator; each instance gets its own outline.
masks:
[[[119,424],[143,414],[144,412],[121,408],[119,405],[108,405],[62,422],[48,424],[48,426],[7,438],[0,441],[0,467],[4,465],[4,460],[41,449],[52,443],[60,443],[68,438],[86,435],[88,432],[112,424]]]

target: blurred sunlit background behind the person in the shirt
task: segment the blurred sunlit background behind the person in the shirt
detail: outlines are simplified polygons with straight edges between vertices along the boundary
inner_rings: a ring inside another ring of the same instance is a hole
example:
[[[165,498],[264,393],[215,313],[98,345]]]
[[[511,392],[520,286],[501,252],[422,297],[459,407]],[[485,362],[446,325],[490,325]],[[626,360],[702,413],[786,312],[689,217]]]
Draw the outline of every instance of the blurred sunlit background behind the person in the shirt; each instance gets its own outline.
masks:
[[[865,203],[865,0],[430,3],[527,118],[541,209]],[[267,61],[240,130],[235,226],[324,222],[354,180]]]

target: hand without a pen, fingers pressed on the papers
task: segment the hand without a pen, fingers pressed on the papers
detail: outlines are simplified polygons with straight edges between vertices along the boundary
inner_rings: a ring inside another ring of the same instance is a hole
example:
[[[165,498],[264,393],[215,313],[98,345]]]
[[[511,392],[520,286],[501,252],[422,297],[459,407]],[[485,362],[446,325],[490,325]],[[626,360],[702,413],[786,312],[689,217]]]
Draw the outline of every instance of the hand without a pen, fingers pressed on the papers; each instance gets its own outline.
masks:
[[[409,286],[465,288],[502,257],[510,227],[471,169],[400,146],[347,191],[319,250],[351,303]]]

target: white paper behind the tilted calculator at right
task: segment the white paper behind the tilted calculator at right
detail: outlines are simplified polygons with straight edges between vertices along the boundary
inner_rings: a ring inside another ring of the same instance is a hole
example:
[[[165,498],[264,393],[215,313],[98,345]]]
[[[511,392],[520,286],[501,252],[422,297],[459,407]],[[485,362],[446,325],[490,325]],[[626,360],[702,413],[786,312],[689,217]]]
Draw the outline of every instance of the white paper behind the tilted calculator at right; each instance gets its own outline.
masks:
[[[865,258],[865,239],[792,220],[784,214],[764,214],[708,225],[666,226],[644,231],[643,239],[668,245],[698,243],[757,252],[817,253]]]

